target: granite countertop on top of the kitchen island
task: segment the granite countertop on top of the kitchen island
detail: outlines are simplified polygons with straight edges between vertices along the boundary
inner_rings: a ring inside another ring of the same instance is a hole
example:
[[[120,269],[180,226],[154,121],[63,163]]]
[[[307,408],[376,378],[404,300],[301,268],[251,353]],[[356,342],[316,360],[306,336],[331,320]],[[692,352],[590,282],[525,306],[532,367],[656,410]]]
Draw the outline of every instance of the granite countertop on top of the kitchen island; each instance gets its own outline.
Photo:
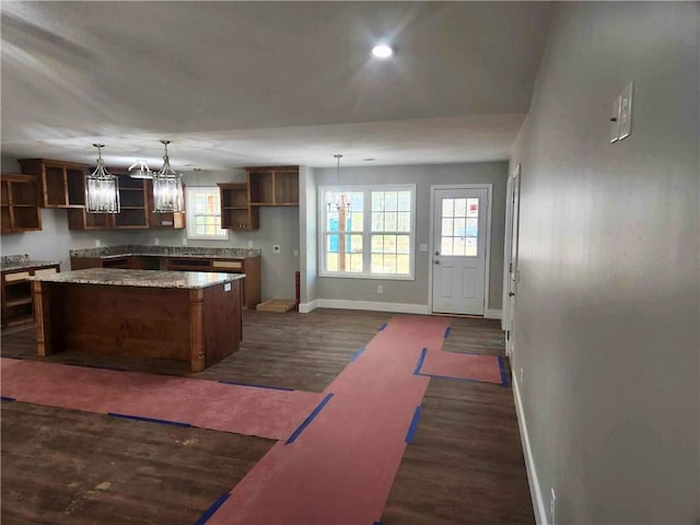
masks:
[[[89,268],[51,276],[32,277],[33,281],[70,282],[75,284],[108,284],[141,288],[207,288],[245,278],[245,273],[211,271],[161,271]]]

